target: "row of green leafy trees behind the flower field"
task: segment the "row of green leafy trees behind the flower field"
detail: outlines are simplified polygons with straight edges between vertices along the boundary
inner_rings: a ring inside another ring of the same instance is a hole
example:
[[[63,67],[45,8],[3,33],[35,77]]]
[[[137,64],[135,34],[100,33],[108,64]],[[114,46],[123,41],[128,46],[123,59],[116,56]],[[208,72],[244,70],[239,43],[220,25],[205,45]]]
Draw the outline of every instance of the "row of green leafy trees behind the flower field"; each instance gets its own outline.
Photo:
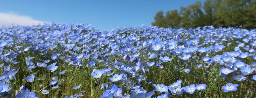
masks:
[[[256,29],[256,0],[205,0],[197,1],[180,10],[159,11],[152,26],[180,28],[180,22],[189,27],[241,27]]]

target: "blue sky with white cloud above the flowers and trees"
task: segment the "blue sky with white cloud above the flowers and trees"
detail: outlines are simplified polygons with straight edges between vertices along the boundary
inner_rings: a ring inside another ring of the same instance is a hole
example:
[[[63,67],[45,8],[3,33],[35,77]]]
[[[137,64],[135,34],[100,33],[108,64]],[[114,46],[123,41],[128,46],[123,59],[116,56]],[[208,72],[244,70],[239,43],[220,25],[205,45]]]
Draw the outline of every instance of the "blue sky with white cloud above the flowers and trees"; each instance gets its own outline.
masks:
[[[0,26],[84,23],[95,29],[149,26],[157,11],[179,10],[205,0],[1,0]]]

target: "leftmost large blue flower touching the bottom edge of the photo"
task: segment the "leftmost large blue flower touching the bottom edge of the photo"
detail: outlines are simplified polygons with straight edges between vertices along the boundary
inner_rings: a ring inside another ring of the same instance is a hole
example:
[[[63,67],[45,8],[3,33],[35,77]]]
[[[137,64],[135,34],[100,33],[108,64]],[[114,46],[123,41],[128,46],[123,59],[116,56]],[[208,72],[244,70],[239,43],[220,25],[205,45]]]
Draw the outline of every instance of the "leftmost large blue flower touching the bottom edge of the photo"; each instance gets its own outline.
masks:
[[[36,93],[30,92],[30,90],[22,90],[21,94],[16,94],[15,98],[37,98]]]

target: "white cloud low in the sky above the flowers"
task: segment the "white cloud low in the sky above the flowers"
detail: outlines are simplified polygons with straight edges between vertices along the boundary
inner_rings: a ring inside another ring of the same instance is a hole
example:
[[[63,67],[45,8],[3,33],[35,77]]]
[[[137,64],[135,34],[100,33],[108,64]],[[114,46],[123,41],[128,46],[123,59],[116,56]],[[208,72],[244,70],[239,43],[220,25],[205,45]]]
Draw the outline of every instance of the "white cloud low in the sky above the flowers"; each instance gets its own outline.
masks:
[[[0,12],[0,27],[1,26],[9,27],[9,26],[16,26],[16,25],[32,26],[33,24],[38,24],[38,23],[43,24],[48,22],[34,20],[30,16],[20,16],[13,12],[8,12],[8,13]]]

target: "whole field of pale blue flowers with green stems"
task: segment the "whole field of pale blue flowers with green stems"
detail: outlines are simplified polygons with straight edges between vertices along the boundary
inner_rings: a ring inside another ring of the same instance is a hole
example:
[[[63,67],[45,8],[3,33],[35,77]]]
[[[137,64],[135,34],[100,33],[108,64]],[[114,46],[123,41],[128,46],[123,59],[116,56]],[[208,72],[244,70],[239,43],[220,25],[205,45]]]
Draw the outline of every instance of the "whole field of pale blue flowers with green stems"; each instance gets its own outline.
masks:
[[[6,98],[241,98],[256,93],[256,29],[0,28]]]

